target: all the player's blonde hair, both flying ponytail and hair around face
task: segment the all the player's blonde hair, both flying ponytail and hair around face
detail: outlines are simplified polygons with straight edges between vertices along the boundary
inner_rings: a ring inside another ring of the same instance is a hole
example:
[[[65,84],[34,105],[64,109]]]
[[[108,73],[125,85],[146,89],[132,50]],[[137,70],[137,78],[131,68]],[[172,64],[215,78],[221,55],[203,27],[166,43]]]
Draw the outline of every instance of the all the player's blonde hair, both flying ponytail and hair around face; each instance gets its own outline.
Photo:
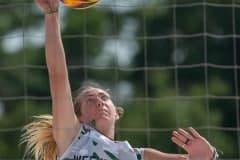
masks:
[[[79,89],[74,100],[74,110],[77,117],[81,116],[82,97],[92,89],[102,89],[99,86],[84,86]],[[104,90],[104,89],[102,89]],[[106,91],[106,90],[104,90]],[[106,91],[107,92],[107,91]],[[122,107],[116,107],[119,117],[124,113]],[[33,122],[23,127],[20,144],[25,144],[24,157],[34,157],[35,160],[56,160],[57,145],[53,137],[52,115],[35,116]]]

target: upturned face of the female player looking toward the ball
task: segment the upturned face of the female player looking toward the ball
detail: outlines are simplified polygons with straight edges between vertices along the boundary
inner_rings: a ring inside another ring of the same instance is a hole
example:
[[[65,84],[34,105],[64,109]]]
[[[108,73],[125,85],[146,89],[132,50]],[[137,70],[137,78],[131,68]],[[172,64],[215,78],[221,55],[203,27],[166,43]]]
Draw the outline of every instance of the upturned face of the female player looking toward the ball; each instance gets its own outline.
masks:
[[[84,92],[80,109],[79,119],[82,123],[95,120],[96,123],[110,125],[119,118],[110,95],[99,88],[90,88]]]

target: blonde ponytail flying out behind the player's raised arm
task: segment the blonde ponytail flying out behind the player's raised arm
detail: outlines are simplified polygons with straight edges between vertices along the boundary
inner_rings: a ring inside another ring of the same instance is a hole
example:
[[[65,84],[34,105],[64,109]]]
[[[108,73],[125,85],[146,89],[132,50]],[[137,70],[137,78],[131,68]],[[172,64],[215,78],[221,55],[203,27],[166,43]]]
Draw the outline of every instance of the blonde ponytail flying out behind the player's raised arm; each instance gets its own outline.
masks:
[[[51,115],[35,116],[35,120],[23,128],[20,144],[26,144],[24,157],[35,160],[56,160],[57,146],[53,138]]]

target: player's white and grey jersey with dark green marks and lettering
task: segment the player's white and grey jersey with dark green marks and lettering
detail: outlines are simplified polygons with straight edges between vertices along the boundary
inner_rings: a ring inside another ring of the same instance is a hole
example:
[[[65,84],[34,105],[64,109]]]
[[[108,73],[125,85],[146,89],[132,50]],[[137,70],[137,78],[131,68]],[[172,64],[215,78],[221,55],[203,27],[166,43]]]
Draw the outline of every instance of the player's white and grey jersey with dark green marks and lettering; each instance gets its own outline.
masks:
[[[112,141],[88,125],[80,131],[58,160],[143,160],[143,149],[127,141]]]

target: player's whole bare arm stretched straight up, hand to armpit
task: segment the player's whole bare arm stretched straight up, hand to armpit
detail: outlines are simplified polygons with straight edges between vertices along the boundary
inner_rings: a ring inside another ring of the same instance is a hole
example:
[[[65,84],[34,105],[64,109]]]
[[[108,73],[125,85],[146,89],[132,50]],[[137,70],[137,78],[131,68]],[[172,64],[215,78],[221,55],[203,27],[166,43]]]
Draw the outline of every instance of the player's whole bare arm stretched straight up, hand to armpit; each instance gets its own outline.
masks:
[[[45,54],[53,112],[53,135],[62,155],[78,132],[59,22],[59,0],[36,0],[45,14]]]

